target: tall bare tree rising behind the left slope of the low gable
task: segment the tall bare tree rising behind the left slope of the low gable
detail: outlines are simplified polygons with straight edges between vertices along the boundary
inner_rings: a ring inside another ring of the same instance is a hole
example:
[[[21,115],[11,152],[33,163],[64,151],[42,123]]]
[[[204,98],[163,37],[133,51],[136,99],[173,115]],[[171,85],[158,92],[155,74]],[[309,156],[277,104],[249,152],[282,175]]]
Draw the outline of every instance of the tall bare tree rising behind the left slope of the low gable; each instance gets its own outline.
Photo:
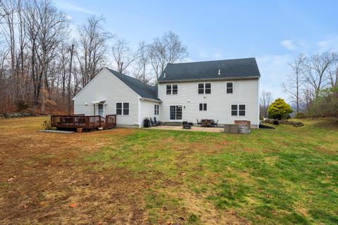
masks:
[[[95,75],[106,65],[107,41],[113,38],[106,32],[101,23],[104,18],[92,16],[87,23],[78,28],[77,60],[82,73],[82,86],[88,84]]]

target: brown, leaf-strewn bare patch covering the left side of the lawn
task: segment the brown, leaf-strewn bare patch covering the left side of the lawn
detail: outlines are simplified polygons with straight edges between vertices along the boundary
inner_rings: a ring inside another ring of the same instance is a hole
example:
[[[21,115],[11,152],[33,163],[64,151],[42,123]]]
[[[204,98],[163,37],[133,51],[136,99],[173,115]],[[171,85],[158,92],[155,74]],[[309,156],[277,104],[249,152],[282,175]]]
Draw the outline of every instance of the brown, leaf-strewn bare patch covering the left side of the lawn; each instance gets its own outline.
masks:
[[[46,134],[36,132],[43,119],[30,118],[35,127],[22,120],[6,120],[9,127],[0,131],[0,224],[149,224],[142,175],[114,168],[92,172],[81,162],[114,144],[104,134],[132,129]]]

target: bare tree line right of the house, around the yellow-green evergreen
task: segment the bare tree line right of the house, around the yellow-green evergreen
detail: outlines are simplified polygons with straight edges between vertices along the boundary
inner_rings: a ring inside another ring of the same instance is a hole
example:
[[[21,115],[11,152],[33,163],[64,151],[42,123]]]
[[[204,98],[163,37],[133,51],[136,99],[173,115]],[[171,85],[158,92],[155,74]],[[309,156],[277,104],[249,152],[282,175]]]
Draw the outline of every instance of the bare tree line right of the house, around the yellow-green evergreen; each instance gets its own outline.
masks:
[[[289,63],[291,73],[283,82],[296,116],[338,117],[338,53],[327,51],[306,56],[300,53]],[[261,117],[268,117],[272,94],[261,94]]]

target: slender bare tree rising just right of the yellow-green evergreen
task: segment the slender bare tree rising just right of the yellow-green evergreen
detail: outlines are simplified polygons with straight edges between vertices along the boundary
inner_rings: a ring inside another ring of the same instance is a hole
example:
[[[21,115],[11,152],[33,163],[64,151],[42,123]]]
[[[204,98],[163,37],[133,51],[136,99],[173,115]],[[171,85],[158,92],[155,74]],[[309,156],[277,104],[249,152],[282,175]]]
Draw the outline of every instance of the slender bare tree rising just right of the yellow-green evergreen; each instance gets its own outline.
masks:
[[[301,53],[293,63],[289,63],[292,73],[287,77],[287,83],[283,83],[284,92],[289,95],[292,102],[296,105],[296,112],[299,113],[299,103],[301,101],[301,91],[305,82],[305,63],[306,56]]]

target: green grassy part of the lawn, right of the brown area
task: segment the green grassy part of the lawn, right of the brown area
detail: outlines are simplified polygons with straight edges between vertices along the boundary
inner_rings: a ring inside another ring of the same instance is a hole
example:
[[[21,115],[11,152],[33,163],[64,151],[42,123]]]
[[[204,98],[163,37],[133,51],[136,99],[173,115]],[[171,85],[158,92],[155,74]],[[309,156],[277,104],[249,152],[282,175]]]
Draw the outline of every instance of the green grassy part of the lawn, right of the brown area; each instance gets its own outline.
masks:
[[[87,169],[146,174],[154,224],[180,214],[201,224],[208,204],[253,224],[338,224],[337,128],[306,122],[248,135],[140,129],[111,139],[117,144],[84,157]],[[181,193],[198,198],[199,210]]]

